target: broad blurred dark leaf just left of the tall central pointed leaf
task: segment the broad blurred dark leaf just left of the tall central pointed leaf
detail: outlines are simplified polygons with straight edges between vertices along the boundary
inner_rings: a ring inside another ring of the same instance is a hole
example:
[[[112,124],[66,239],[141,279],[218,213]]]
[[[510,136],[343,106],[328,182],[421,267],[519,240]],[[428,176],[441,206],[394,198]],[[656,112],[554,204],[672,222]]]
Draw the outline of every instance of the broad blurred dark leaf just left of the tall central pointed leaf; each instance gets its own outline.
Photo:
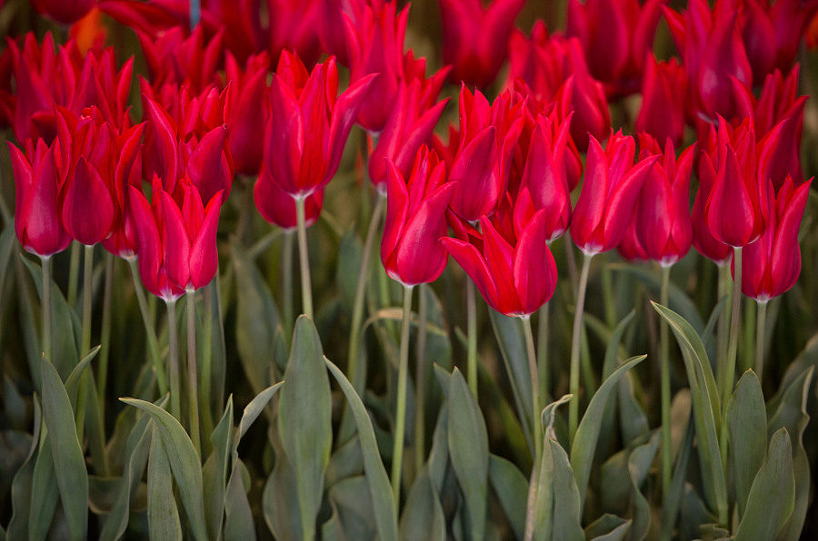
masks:
[[[270,288],[238,241],[231,242],[236,282],[235,341],[239,359],[255,394],[270,386],[269,364],[281,317]]]

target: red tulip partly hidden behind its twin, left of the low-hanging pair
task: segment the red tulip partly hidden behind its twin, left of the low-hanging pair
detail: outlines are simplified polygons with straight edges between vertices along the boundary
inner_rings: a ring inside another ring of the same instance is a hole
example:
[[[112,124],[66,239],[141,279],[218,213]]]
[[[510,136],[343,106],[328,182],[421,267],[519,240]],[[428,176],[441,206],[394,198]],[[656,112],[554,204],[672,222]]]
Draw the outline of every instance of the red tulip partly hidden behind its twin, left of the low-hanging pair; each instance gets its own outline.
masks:
[[[153,203],[135,186],[128,186],[128,214],[134,221],[139,276],[145,289],[165,302],[178,300],[185,290],[177,287],[167,276],[165,261],[168,235],[165,232],[165,213],[162,210],[162,182],[154,177]]]

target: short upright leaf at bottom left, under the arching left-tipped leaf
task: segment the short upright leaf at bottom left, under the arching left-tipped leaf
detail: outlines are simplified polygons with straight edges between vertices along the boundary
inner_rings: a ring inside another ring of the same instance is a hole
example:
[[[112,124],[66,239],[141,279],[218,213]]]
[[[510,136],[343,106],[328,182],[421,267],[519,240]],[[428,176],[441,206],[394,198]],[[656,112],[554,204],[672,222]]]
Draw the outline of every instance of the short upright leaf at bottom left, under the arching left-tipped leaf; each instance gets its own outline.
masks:
[[[148,528],[152,539],[182,539],[179,510],[174,499],[173,477],[158,423],[151,423],[151,453],[148,461]],[[191,444],[193,445],[193,444]]]

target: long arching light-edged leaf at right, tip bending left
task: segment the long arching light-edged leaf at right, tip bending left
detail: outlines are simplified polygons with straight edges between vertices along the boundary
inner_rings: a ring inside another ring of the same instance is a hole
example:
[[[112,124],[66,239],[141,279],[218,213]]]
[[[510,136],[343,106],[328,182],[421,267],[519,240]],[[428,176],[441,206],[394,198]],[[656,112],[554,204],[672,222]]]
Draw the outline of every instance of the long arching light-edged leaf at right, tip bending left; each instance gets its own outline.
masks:
[[[687,321],[655,302],[651,304],[670,324],[673,335],[682,348],[684,367],[693,397],[693,420],[698,442],[696,448],[702,467],[704,497],[711,508],[718,511],[719,522],[726,523],[727,486],[718,440],[721,406],[710,361],[704,352],[702,340]]]

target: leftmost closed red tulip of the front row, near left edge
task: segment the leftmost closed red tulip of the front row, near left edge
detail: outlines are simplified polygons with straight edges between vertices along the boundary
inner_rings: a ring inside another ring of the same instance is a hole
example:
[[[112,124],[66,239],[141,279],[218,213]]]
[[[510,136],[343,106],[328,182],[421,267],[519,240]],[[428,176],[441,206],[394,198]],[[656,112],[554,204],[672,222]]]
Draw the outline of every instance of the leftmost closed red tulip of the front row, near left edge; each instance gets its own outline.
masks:
[[[49,257],[71,243],[60,221],[60,177],[55,146],[26,142],[25,154],[8,143],[15,176],[15,232],[25,251]]]

